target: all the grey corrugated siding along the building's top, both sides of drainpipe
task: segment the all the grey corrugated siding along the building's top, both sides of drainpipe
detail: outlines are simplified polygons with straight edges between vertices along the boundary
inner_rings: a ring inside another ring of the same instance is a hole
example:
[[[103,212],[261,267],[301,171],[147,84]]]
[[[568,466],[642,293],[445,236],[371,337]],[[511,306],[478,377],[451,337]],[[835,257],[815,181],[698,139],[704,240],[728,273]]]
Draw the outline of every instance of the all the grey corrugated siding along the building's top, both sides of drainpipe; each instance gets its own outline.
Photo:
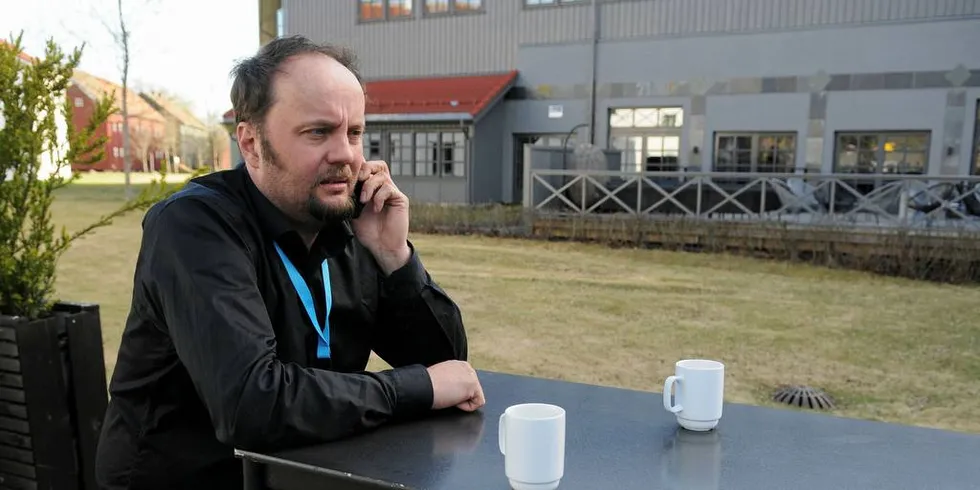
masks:
[[[604,39],[704,35],[980,15],[980,0],[600,0]],[[357,21],[356,0],[284,0],[287,33],[353,47],[368,78],[509,70],[521,44],[586,41],[591,5],[525,9],[484,0],[477,15]]]

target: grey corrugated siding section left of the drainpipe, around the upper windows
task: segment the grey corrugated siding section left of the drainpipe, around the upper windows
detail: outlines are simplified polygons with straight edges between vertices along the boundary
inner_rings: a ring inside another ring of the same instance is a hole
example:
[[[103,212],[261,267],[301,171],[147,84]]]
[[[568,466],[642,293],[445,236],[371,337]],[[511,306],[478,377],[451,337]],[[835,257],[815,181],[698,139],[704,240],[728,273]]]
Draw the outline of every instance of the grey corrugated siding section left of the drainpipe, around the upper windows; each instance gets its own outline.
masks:
[[[347,44],[369,78],[505,71],[517,46],[589,39],[588,5],[525,12],[520,0],[485,0],[486,13],[359,23],[355,0],[287,0],[287,33]]]

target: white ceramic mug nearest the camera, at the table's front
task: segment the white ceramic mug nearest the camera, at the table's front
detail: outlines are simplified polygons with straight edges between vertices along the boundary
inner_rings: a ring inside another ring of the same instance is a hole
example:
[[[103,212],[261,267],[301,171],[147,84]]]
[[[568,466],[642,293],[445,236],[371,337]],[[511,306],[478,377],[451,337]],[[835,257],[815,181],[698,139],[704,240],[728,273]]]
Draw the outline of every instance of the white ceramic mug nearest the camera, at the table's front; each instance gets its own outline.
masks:
[[[558,488],[565,474],[565,409],[546,403],[508,407],[497,437],[511,488]]]

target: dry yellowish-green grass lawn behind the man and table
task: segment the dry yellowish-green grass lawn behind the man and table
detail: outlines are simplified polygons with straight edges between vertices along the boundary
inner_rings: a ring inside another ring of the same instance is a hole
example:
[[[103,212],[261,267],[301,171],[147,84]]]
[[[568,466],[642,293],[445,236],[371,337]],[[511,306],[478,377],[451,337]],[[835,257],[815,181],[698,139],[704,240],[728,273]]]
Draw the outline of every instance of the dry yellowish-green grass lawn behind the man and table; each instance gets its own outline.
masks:
[[[63,190],[55,219],[73,229],[112,210],[122,189],[110,180]],[[59,264],[59,298],[102,305],[110,372],[140,219],[97,230]],[[775,406],[779,385],[809,384],[840,416],[980,432],[980,289],[719,255],[412,238],[460,304],[478,369],[659,392],[674,361],[708,357],[727,365],[730,402]]]

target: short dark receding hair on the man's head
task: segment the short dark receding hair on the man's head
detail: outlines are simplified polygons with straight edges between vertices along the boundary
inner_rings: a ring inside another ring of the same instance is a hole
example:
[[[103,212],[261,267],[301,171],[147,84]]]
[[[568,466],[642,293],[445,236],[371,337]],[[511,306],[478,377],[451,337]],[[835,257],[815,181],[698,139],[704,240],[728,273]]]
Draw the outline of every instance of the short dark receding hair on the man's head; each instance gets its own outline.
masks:
[[[262,46],[255,56],[238,62],[232,69],[235,81],[231,86],[231,104],[235,111],[235,122],[261,124],[274,102],[272,82],[279,66],[292,56],[308,53],[333,58],[350,70],[363,86],[364,82],[357,70],[357,59],[350,49],[315,43],[303,36],[273,39]]]

